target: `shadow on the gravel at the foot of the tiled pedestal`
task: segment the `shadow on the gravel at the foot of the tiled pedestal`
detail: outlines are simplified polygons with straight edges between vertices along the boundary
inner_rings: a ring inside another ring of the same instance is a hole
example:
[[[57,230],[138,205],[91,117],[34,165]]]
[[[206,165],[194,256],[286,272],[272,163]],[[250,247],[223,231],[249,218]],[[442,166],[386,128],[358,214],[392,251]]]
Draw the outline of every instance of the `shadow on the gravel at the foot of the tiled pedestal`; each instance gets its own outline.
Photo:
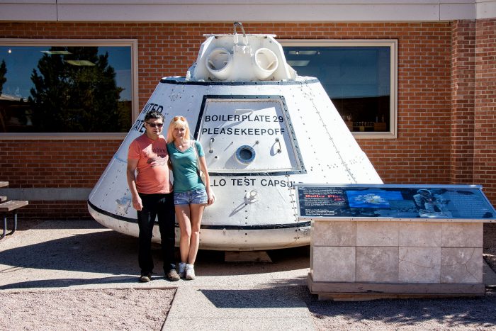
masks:
[[[317,301],[315,296],[308,295],[305,301],[310,313],[317,321],[321,320],[323,325],[339,317],[349,321],[354,328],[374,325],[376,322],[424,330],[432,330],[432,327],[439,330],[440,325],[443,329],[470,330],[496,326],[495,293],[487,293],[482,298],[382,299],[359,302]]]

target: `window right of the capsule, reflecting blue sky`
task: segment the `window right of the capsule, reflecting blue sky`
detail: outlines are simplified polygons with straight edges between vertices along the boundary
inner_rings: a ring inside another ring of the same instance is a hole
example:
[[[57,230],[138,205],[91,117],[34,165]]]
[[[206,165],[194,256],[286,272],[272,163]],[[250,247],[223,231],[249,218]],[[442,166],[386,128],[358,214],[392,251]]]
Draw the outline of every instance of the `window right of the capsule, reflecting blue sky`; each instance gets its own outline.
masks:
[[[395,41],[282,41],[300,76],[317,77],[349,130],[395,133]]]

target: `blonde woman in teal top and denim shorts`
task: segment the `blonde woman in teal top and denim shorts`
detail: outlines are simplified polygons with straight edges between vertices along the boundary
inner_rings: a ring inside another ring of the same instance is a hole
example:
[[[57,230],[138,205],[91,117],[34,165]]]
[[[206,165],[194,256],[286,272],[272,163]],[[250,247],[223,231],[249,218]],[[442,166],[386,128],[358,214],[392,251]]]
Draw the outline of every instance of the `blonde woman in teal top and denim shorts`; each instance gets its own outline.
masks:
[[[179,275],[194,279],[203,209],[211,205],[215,198],[210,189],[203,147],[196,140],[190,140],[189,134],[186,118],[172,118],[167,131],[167,151],[174,174],[174,208],[181,229]],[[197,164],[197,153],[200,164]],[[198,169],[205,174],[205,183],[201,181]]]

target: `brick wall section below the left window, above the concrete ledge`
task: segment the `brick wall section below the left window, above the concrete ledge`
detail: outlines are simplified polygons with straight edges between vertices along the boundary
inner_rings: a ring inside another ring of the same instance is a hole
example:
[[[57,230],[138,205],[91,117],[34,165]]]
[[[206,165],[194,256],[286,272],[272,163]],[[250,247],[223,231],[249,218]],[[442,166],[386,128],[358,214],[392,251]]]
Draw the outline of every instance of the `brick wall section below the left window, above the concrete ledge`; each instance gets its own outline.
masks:
[[[93,187],[120,140],[0,140],[9,187]]]

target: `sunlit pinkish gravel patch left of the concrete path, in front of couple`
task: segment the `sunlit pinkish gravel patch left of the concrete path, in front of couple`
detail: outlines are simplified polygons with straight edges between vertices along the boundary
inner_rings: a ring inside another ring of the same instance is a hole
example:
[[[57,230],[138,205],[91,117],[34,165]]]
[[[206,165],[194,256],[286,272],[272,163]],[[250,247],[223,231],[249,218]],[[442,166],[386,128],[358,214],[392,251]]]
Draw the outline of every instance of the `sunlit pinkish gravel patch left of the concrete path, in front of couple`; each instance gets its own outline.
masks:
[[[1,294],[0,330],[161,330],[174,289]]]

